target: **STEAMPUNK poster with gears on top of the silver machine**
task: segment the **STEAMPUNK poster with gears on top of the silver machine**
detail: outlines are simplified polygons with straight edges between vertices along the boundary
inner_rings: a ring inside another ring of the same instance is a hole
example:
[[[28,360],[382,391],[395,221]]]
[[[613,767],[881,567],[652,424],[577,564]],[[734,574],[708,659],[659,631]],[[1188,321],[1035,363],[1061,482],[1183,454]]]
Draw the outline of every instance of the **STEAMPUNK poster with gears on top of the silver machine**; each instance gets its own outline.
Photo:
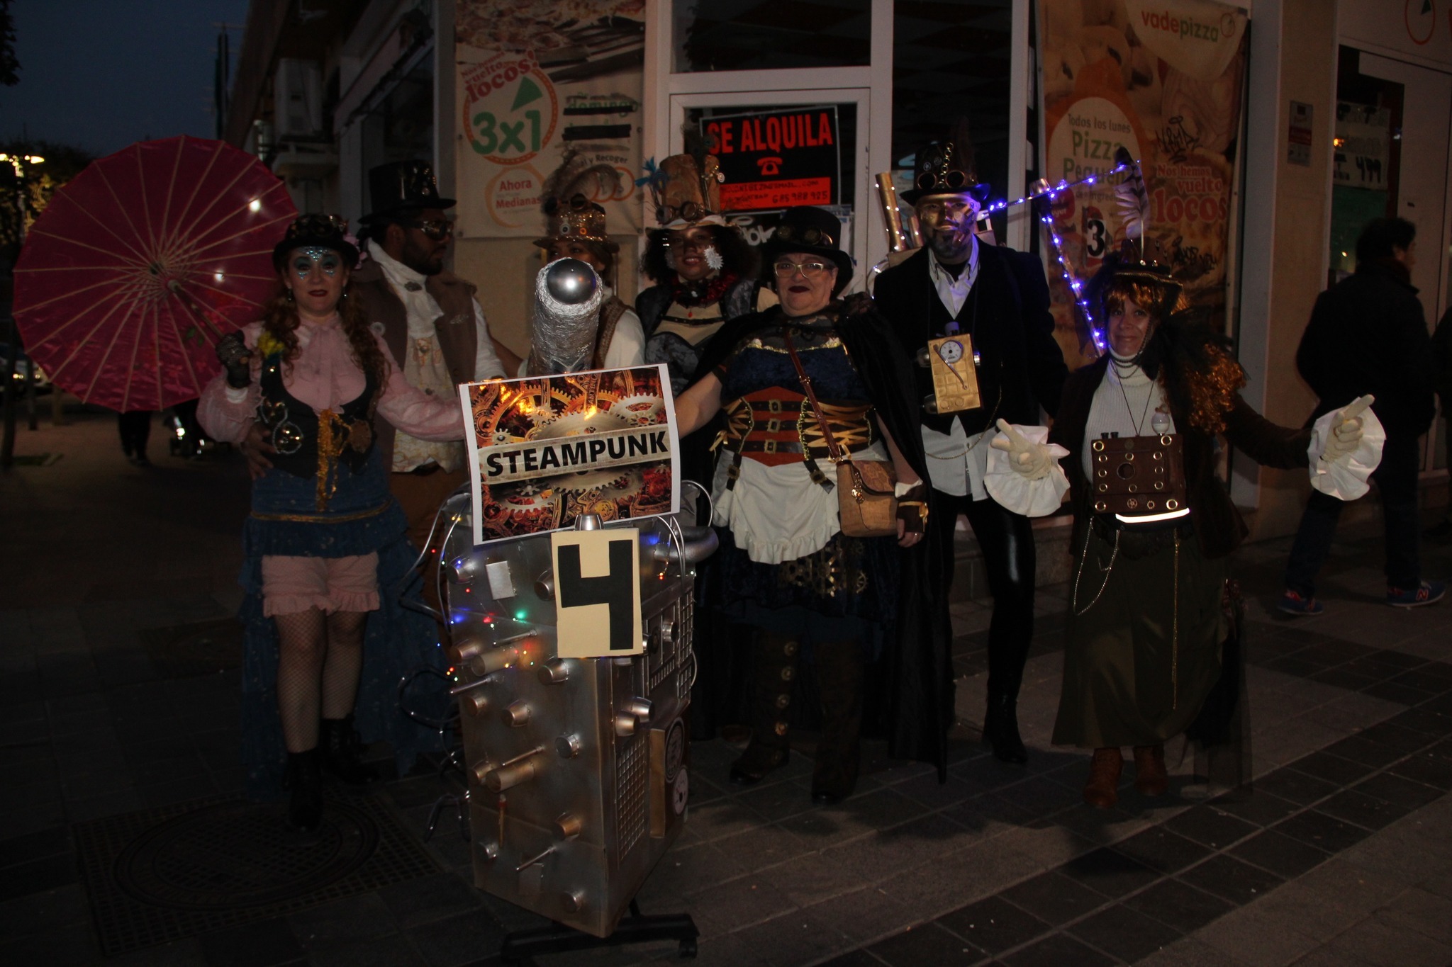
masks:
[[[465,383],[473,542],[681,509],[664,365]]]

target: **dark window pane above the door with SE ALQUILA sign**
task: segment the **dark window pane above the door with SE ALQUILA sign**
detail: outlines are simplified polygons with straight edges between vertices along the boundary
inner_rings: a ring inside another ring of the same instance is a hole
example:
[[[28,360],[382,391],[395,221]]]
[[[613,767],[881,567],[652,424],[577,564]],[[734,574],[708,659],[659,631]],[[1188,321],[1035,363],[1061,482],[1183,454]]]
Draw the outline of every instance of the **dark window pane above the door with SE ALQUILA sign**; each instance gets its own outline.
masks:
[[[871,6],[871,0],[674,0],[672,71],[865,67]]]

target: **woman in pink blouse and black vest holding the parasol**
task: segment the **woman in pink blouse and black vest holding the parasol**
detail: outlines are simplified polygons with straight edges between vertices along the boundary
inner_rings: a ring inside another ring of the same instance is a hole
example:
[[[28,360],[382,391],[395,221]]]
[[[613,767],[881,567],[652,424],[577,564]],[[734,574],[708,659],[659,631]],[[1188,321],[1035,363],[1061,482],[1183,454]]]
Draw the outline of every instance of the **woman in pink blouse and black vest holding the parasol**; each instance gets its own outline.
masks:
[[[398,574],[411,563],[407,520],[375,445],[375,415],[420,439],[465,433],[457,402],[409,386],[348,299],[357,257],[341,219],[295,220],[273,249],[276,296],[260,322],[218,342],[224,373],[197,412],[208,433],[229,442],[242,441],[256,420],[276,449],[272,470],[253,481],[242,532],[244,760],[250,792],[258,793],[280,765],[280,716],[287,816],[306,831],[322,815],[319,770],[351,784],[372,779],[353,729],[364,631],[382,644],[373,634],[382,629],[369,628],[380,606],[380,554]],[[396,610],[392,594],[383,599],[386,612]],[[418,621],[421,639],[433,644],[431,622]],[[375,661],[404,661],[408,670],[415,661],[393,632]],[[396,684],[396,671],[385,677]],[[391,700],[382,712],[388,729],[399,716]]]

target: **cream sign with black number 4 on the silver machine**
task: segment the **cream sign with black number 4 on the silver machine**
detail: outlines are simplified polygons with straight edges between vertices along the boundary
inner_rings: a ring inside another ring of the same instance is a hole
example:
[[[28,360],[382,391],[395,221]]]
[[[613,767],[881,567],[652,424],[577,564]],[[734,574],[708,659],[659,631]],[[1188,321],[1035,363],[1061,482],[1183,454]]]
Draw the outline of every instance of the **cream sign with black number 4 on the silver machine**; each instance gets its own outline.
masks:
[[[556,531],[555,631],[560,658],[645,651],[640,622],[640,531]]]

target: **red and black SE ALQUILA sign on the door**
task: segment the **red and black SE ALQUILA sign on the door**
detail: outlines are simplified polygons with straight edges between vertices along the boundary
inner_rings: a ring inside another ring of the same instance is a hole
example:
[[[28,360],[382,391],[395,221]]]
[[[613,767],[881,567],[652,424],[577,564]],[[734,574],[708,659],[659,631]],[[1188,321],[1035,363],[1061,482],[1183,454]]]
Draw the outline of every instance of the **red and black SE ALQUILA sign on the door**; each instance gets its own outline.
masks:
[[[841,200],[836,104],[703,117],[720,171],[723,212],[772,212]]]

